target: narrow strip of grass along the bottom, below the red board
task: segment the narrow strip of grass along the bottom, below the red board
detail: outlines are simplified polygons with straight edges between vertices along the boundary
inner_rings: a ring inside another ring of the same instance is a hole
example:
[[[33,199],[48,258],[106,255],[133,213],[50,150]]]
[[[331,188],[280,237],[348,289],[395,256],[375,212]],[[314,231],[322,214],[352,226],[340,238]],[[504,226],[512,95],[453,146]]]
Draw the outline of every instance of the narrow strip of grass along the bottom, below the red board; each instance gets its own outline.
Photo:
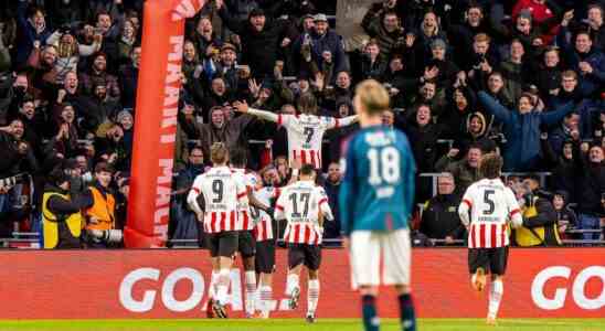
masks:
[[[0,321],[0,330],[95,330],[95,331],[359,331],[359,320],[325,319],[315,324],[301,320],[68,320],[68,321]],[[383,320],[381,330],[395,331],[396,320]],[[422,319],[418,330],[540,330],[597,331],[605,330],[605,319],[503,319],[497,327],[488,327],[478,319]]]

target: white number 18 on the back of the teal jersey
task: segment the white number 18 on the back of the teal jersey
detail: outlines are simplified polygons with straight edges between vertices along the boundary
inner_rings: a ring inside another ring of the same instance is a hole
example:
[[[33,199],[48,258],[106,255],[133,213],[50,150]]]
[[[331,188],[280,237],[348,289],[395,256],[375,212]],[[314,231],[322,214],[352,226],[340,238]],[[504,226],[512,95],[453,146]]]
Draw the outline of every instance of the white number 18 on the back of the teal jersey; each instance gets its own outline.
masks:
[[[400,180],[400,152],[396,148],[371,148],[368,151],[370,159],[370,178],[372,185],[380,185],[383,182],[394,184]]]

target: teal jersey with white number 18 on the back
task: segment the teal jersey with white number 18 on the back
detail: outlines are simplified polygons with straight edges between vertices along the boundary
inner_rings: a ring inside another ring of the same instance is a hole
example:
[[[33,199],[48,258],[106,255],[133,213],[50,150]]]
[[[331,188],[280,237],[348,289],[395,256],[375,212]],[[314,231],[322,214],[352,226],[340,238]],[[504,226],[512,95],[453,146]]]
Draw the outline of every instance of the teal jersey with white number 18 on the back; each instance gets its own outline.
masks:
[[[339,206],[341,231],[407,228],[415,162],[405,135],[385,126],[358,131],[343,146]]]

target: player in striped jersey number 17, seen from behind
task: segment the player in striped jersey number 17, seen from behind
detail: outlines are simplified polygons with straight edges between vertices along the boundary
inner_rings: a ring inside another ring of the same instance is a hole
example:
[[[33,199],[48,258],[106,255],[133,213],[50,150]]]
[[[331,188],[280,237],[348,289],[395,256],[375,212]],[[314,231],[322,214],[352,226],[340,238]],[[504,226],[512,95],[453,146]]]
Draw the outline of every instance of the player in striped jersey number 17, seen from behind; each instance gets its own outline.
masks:
[[[288,222],[284,233],[284,241],[288,243],[286,296],[290,298],[290,309],[296,309],[300,297],[300,269],[305,265],[309,273],[306,317],[309,323],[315,322],[319,301],[323,218],[333,220],[326,191],[315,184],[315,177],[312,166],[304,164],[299,180],[282,190],[275,205],[275,220]]]

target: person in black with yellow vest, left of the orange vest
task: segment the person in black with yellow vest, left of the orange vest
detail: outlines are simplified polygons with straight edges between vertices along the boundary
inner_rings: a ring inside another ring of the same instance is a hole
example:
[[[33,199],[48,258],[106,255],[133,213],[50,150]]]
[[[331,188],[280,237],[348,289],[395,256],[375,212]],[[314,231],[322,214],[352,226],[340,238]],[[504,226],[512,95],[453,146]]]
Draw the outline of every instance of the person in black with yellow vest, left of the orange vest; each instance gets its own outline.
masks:
[[[67,174],[61,168],[53,170],[42,195],[44,248],[81,248],[81,203],[70,195]]]

